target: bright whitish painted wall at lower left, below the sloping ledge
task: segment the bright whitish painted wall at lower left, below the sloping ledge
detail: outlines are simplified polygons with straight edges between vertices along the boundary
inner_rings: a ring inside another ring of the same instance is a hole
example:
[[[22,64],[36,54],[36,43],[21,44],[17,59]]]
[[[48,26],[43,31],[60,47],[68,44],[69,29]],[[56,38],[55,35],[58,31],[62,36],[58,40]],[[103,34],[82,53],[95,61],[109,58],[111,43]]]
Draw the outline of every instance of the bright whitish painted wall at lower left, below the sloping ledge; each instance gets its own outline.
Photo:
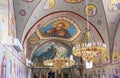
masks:
[[[0,55],[0,78],[27,78],[26,66],[1,45]]]

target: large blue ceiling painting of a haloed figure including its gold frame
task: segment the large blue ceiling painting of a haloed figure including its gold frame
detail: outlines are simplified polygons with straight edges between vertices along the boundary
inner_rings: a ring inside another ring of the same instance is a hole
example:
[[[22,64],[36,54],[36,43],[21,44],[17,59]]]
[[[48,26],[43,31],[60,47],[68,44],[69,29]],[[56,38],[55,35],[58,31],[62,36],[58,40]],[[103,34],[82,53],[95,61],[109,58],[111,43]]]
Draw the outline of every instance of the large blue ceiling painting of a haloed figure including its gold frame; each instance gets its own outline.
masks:
[[[81,33],[78,25],[69,18],[60,17],[47,22],[36,30],[39,39],[60,39],[72,41]]]

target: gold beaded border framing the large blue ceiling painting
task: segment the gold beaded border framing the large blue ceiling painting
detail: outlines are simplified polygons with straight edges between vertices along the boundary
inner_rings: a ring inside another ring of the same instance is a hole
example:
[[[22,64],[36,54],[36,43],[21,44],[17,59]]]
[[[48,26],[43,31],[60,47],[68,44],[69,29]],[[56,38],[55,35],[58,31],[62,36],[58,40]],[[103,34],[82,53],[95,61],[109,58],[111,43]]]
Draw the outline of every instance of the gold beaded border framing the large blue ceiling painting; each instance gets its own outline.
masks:
[[[40,30],[37,29],[35,32],[36,32],[36,35],[39,39],[59,39],[59,40],[66,40],[66,41],[73,41],[78,35],[80,35],[81,33],[81,30],[79,29],[79,26],[74,22],[72,21],[70,18],[67,18],[67,17],[59,17],[59,18],[54,18],[52,20],[50,20],[49,22],[47,22],[45,25],[43,26],[47,26],[49,23],[55,21],[55,20],[67,20],[68,22],[72,23],[73,26],[75,27],[75,29],[77,30],[77,33],[72,36],[71,38],[68,38],[68,39],[65,39],[65,38],[60,38],[60,37],[43,37]]]

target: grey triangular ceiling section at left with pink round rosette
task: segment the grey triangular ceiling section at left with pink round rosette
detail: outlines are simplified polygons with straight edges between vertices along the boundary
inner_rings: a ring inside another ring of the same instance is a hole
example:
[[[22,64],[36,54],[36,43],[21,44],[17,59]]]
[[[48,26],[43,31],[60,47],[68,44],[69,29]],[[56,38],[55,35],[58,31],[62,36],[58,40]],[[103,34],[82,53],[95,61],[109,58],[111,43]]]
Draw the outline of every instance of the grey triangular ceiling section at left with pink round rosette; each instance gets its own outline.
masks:
[[[13,0],[14,13],[16,21],[17,37],[20,39],[24,25],[29,19],[31,13],[41,0]],[[21,22],[20,22],[21,21]],[[20,22],[20,24],[19,24]],[[19,35],[19,36],[18,36]]]

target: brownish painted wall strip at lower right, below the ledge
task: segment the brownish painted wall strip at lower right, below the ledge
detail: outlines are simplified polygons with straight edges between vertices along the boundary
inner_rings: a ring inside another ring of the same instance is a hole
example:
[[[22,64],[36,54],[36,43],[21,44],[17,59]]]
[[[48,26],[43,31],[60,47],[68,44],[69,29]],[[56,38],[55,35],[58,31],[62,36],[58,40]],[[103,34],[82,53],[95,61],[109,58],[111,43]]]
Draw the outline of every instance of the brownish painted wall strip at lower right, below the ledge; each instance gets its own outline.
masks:
[[[120,68],[118,64],[111,64],[84,71],[85,78],[119,78]]]

